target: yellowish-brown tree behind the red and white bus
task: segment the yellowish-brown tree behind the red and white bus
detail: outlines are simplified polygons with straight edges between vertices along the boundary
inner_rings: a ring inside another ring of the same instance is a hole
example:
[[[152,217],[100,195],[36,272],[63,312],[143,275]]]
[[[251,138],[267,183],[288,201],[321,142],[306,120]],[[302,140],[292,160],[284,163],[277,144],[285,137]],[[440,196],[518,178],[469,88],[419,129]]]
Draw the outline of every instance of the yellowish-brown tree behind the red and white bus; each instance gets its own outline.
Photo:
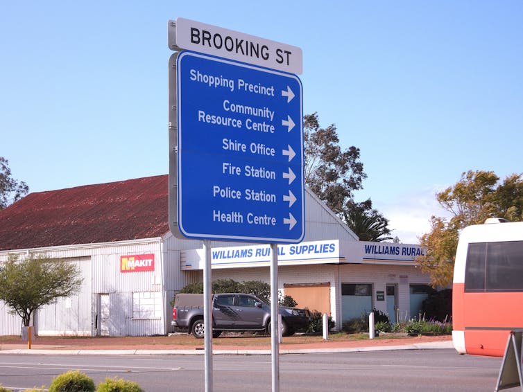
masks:
[[[469,170],[461,174],[456,184],[436,194],[438,203],[451,217],[431,217],[431,231],[420,237],[425,256],[418,257],[422,271],[431,276],[434,287],[445,287],[452,282],[461,229],[482,224],[488,217],[523,220],[522,175],[499,180],[492,171]]]

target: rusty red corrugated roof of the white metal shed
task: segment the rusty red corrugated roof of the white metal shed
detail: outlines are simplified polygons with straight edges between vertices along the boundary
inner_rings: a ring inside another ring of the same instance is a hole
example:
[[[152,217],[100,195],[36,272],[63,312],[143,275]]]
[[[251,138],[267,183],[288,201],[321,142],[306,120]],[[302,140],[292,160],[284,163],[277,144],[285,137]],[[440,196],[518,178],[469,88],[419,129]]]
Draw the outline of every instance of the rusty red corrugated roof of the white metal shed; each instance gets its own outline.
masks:
[[[161,237],[169,176],[30,193],[0,211],[0,250]]]

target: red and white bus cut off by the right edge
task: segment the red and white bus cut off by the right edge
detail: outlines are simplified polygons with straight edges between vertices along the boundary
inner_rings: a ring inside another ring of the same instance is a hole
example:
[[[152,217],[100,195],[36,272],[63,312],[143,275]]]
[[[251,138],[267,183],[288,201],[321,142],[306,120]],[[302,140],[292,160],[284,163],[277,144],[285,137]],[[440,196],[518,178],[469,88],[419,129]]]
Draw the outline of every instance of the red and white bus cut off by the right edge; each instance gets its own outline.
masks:
[[[461,354],[503,357],[523,328],[523,222],[488,219],[463,229],[452,290],[452,341]]]

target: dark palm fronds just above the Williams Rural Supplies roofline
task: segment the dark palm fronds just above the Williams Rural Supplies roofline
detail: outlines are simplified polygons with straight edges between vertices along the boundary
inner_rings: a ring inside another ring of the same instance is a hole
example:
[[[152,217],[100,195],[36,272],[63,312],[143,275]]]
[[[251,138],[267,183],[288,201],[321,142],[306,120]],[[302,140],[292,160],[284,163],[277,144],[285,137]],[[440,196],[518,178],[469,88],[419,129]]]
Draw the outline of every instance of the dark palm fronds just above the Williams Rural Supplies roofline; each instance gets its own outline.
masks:
[[[372,208],[372,201],[355,203],[350,200],[343,211],[343,219],[360,241],[392,240],[388,219]]]

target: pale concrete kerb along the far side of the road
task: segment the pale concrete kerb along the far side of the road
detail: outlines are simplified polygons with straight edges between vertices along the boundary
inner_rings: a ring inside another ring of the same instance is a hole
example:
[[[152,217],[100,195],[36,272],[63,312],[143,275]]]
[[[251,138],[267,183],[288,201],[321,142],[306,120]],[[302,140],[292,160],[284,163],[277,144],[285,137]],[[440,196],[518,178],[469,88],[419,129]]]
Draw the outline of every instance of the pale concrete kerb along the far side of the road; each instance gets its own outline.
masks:
[[[452,341],[429,341],[417,344],[404,344],[401,346],[367,346],[353,348],[298,348],[280,350],[280,355],[289,354],[318,354],[318,353],[359,353],[366,351],[389,350],[436,350],[454,348]],[[213,350],[213,355],[271,355],[271,350]],[[0,350],[2,354],[40,354],[40,355],[203,355],[205,350],[38,350],[17,348],[13,350]]]

